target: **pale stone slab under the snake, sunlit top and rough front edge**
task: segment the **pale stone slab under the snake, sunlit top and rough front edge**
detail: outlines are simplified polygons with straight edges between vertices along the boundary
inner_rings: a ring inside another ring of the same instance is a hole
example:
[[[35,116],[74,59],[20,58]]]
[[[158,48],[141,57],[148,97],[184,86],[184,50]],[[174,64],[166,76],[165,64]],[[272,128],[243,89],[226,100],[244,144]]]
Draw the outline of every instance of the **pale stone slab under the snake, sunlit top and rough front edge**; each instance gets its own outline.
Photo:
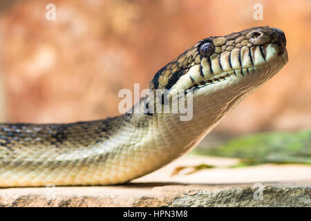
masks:
[[[235,163],[186,155],[124,185],[0,189],[0,206],[311,206],[311,166],[221,168]],[[220,168],[171,176],[198,164]]]

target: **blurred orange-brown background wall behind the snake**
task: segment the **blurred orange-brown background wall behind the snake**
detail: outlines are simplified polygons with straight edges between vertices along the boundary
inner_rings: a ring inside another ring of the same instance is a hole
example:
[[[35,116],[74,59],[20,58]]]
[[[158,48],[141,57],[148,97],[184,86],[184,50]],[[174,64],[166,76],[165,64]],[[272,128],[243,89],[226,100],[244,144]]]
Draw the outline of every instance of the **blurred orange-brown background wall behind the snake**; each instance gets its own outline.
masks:
[[[46,19],[46,5],[56,20]],[[255,21],[254,4],[263,5]],[[196,42],[252,26],[285,32],[290,61],[215,128],[311,128],[311,1],[49,0],[0,3],[1,122],[76,122],[119,115],[122,88],[147,88]]]

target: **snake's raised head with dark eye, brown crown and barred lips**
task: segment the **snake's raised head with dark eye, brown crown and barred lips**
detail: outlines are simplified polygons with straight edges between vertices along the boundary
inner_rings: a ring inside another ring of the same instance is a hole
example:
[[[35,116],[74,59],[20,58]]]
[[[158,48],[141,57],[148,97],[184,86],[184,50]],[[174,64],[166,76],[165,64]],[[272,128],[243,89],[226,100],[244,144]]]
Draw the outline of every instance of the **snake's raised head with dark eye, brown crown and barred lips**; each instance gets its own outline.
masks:
[[[149,88],[178,90],[253,90],[270,79],[287,62],[284,32],[269,26],[208,37],[185,50],[161,68]],[[244,91],[247,93],[247,91]]]

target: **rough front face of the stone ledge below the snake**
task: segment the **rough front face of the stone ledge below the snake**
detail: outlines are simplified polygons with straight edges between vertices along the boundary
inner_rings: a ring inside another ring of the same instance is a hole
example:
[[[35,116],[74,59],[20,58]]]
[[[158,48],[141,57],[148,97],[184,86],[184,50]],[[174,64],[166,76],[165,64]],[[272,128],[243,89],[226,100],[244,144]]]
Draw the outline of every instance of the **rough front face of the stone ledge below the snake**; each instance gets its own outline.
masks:
[[[1,189],[0,206],[311,206],[310,186],[168,183],[122,186]]]

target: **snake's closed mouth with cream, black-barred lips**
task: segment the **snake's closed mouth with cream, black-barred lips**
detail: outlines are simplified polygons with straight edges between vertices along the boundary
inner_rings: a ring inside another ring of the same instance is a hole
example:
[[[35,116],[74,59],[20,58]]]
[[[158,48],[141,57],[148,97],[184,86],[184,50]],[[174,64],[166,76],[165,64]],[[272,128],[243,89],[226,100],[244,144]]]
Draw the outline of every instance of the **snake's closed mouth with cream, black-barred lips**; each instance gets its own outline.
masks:
[[[260,79],[259,76],[265,75],[267,68],[271,68],[271,66],[283,67],[287,62],[288,53],[282,43],[253,46],[245,51],[239,49],[238,52],[211,57],[210,61],[201,62],[201,64],[190,68],[189,72],[180,77],[172,87],[171,94],[173,95],[177,89],[194,90],[195,92],[223,81],[238,82],[253,75]],[[224,84],[223,88],[229,85]]]

